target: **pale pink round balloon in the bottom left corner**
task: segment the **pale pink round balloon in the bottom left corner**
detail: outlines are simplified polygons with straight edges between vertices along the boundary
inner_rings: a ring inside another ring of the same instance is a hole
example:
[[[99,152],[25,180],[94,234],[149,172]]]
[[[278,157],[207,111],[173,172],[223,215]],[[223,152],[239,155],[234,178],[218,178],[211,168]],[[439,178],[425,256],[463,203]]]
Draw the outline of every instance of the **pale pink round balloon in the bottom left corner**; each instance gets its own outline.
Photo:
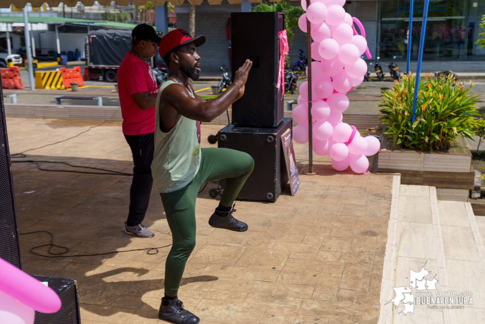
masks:
[[[0,291],[0,323],[33,324],[35,310]]]

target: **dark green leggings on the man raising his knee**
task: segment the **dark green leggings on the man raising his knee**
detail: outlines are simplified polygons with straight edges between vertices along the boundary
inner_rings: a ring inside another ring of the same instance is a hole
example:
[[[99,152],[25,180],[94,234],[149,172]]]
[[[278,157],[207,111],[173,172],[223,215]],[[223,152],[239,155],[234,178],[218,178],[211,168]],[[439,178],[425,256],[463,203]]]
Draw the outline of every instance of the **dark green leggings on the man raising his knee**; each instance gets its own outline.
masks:
[[[226,179],[220,204],[230,207],[254,168],[254,160],[248,153],[207,148],[201,149],[201,154],[199,172],[190,184],[160,194],[173,237],[173,245],[165,262],[165,292],[170,296],[177,295],[185,263],[195,247],[195,202],[201,185]]]

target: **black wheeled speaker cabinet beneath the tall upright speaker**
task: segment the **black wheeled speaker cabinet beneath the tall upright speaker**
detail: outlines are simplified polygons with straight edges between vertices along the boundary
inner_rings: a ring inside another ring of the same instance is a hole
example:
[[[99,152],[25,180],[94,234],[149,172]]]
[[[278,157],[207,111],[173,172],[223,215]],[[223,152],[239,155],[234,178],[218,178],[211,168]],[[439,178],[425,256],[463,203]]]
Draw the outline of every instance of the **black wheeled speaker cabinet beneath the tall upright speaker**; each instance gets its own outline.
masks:
[[[249,128],[227,125],[217,133],[218,147],[246,152],[254,159],[254,170],[237,199],[276,201],[288,182],[281,135],[291,129],[291,118],[275,128]],[[224,181],[219,182],[219,192]]]

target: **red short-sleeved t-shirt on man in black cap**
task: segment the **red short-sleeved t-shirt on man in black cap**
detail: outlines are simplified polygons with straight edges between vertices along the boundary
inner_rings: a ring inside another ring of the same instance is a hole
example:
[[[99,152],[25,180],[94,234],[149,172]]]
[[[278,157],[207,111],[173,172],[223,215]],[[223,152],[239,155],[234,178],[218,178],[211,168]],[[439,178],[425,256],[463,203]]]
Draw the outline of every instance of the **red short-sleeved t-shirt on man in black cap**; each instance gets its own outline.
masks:
[[[123,117],[123,134],[142,135],[155,130],[155,107],[143,110],[131,95],[138,92],[158,93],[155,74],[150,65],[128,52],[117,72],[118,97]]]

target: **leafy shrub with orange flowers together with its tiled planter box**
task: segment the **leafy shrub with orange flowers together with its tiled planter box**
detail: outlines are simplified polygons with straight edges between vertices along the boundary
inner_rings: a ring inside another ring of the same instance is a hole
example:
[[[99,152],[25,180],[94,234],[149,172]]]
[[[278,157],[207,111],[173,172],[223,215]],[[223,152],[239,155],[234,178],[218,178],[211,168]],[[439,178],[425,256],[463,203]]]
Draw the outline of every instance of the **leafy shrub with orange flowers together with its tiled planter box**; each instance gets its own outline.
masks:
[[[412,105],[416,78],[402,77],[383,92],[379,118],[386,126],[378,171],[400,172],[403,184],[473,188],[471,153],[464,137],[473,135],[479,95],[452,77],[426,75],[419,83],[416,118]],[[377,118],[377,117],[376,117]],[[462,192],[464,194],[464,192]]]

